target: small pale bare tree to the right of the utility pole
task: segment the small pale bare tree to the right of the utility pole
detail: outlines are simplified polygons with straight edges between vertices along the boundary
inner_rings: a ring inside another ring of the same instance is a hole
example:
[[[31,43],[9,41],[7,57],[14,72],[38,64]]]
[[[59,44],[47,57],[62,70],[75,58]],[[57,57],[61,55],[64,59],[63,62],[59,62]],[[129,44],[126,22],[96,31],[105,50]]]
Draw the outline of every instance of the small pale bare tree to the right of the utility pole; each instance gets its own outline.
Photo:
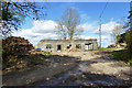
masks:
[[[113,40],[114,40],[114,43],[119,43],[119,40],[121,38],[121,33],[122,33],[122,25],[119,24],[119,25],[116,25],[114,29],[112,30],[112,36],[113,36]]]

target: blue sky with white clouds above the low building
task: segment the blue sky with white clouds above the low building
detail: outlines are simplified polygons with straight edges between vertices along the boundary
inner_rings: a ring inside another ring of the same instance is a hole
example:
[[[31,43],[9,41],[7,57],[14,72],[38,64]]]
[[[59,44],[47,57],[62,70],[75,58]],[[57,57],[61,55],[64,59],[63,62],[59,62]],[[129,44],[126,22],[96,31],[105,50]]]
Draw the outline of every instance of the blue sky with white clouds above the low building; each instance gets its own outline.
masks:
[[[41,3],[40,3],[41,4]],[[76,9],[81,18],[80,25],[84,33],[82,38],[99,40],[99,15],[106,6],[106,2],[50,2],[46,9],[45,20],[33,21],[26,18],[20,31],[13,32],[14,36],[28,38],[33,45],[36,45],[43,38],[57,38],[55,34],[56,21],[61,19],[67,9]],[[45,10],[44,10],[45,11]],[[112,44],[111,31],[114,25],[124,20],[130,11],[129,2],[109,2],[102,14],[102,46]]]

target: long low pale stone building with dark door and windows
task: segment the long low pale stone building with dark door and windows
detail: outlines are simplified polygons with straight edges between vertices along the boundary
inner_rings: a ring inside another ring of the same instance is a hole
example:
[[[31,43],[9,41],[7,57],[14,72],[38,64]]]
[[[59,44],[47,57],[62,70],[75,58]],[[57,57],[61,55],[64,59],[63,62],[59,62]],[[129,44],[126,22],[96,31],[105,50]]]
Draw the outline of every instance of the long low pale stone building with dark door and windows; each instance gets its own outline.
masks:
[[[46,52],[92,51],[98,48],[97,40],[42,40],[37,48]]]

